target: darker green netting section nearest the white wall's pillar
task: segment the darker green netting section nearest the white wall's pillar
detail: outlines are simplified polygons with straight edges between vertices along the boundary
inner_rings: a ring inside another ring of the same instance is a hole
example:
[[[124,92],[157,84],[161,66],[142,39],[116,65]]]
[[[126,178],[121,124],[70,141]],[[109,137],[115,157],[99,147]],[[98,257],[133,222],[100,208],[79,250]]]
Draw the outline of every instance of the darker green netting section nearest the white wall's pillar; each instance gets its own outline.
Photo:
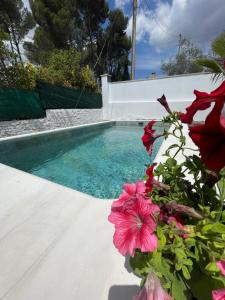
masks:
[[[102,96],[99,93],[51,85],[44,82],[38,82],[37,91],[45,109],[94,109],[102,107]]]

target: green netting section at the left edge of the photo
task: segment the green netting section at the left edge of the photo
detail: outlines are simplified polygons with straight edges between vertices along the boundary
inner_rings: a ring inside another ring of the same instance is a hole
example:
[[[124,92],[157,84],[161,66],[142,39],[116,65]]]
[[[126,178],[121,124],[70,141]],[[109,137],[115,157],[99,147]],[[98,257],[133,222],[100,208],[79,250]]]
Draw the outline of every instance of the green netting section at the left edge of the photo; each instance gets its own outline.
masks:
[[[38,119],[45,117],[35,91],[0,88],[0,120]]]

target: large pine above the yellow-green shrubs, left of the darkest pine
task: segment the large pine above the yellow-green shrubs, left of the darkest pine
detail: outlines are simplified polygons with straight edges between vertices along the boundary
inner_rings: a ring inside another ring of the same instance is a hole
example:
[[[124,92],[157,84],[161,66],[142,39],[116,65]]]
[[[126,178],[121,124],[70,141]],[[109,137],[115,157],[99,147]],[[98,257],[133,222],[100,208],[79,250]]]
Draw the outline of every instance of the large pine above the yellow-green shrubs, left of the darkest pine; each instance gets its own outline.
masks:
[[[96,39],[108,16],[105,0],[30,0],[38,24],[33,43],[25,43],[27,57],[45,64],[54,49],[85,52],[84,65],[96,59]]]

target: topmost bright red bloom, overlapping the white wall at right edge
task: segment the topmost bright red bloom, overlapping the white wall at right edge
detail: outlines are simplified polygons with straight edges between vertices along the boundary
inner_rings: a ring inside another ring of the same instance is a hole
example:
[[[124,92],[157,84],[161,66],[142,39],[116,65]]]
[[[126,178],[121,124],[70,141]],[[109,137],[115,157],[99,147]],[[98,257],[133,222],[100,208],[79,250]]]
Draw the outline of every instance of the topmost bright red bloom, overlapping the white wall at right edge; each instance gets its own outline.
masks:
[[[196,95],[195,101],[186,108],[186,113],[180,115],[180,120],[183,123],[191,124],[193,122],[193,117],[199,110],[205,110],[211,106],[211,103],[214,101],[223,101],[225,102],[225,81],[214,91],[210,94],[194,91]]]

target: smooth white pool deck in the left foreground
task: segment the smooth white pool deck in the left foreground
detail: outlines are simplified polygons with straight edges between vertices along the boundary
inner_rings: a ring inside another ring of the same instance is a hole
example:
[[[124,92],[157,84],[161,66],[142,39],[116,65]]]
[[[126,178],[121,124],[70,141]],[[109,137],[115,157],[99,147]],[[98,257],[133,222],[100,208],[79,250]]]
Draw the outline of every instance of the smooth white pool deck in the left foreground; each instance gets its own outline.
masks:
[[[113,246],[112,201],[3,164],[0,193],[0,300],[132,299],[140,279]]]

